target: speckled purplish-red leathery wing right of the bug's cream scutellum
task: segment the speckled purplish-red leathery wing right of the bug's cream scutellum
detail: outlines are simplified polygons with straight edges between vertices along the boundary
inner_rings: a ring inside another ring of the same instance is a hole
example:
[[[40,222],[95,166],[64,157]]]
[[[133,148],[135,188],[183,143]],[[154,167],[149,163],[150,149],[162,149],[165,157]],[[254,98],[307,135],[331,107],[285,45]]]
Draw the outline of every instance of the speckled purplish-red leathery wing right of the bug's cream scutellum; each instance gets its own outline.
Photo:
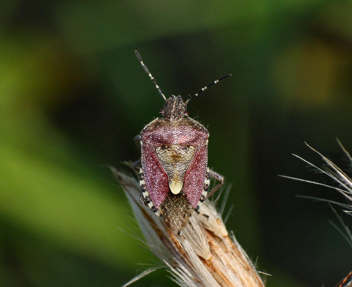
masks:
[[[183,191],[194,208],[197,208],[204,189],[208,165],[208,140],[196,147],[193,159],[184,175]]]

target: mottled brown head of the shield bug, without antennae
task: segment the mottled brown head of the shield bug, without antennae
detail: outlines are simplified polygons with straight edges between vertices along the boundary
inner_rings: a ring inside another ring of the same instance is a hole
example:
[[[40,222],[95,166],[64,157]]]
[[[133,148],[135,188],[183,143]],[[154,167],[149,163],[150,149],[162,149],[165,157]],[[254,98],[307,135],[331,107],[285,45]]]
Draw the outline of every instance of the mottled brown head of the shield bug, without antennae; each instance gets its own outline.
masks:
[[[186,105],[181,96],[171,96],[165,101],[164,107],[159,111],[163,115],[164,120],[181,120],[188,116]]]

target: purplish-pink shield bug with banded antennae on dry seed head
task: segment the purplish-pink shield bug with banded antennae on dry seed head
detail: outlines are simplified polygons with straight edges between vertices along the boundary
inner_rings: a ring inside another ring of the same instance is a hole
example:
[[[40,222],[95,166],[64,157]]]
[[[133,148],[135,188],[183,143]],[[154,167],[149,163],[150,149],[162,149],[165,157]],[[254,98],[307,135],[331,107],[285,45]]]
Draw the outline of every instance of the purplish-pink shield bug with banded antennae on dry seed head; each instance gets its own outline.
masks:
[[[210,177],[220,182],[208,196],[224,183],[223,176],[208,168],[209,132],[199,122],[188,117],[186,107],[190,100],[205,89],[231,75],[211,82],[185,102],[181,96],[172,95],[166,99],[138,52],[134,52],[165,100],[159,111],[163,117],[151,121],[137,136],[142,147],[140,200],[157,216],[163,217],[169,229],[180,234],[188,218],[198,212],[207,198]]]

